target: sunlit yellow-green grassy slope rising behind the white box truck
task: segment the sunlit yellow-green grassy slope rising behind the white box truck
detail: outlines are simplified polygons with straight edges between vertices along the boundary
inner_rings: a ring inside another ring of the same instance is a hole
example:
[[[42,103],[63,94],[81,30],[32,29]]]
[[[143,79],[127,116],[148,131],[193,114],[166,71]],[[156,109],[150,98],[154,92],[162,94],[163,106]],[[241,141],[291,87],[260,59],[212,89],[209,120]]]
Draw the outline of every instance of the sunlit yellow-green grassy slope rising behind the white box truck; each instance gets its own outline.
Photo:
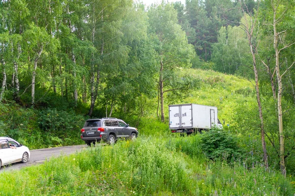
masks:
[[[189,72],[194,77],[199,78],[201,83],[197,89],[189,92],[183,99],[165,100],[164,112],[167,129],[169,118],[168,105],[194,103],[216,106],[218,108],[218,118],[226,130],[230,128],[230,130],[240,132],[243,128],[239,126],[240,122],[236,121],[236,119],[239,119],[241,115],[245,117],[245,119],[242,119],[243,121],[252,118],[252,123],[249,123],[247,129],[252,127],[254,130],[260,130],[255,88],[251,82],[239,79],[233,75],[226,75],[211,70],[189,69],[183,70],[182,72]],[[146,130],[146,127],[149,125],[152,127],[154,123],[156,123],[155,121],[158,121],[156,117],[156,103],[156,99],[149,100],[147,103],[148,109],[146,111],[146,116],[139,124],[140,130],[142,130],[141,133],[147,133],[149,129]],[[255,117],[257,119],[255,119]],[[253,124],[255,121],[257,121],[257,124]],[[229,124],[230,127],[228,127],[227,124]]]

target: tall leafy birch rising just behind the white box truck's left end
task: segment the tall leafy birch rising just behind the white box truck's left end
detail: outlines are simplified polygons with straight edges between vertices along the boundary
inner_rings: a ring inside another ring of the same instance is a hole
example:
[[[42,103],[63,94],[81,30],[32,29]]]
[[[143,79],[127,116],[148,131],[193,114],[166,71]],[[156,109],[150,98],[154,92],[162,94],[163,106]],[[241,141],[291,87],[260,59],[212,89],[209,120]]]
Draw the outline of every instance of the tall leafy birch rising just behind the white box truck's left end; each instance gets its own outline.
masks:
[[[149,33],[155,43],[158,61],[158,89],[161,106],[161,121],[164,122],[164,93],[180,90],[181,87],[167,89],[171,73],[177,68],[189,67],[195,56],[193,46],[188,44],[185,32],[177,24],[177,12],[173,4],[162,3],[148,10]]]

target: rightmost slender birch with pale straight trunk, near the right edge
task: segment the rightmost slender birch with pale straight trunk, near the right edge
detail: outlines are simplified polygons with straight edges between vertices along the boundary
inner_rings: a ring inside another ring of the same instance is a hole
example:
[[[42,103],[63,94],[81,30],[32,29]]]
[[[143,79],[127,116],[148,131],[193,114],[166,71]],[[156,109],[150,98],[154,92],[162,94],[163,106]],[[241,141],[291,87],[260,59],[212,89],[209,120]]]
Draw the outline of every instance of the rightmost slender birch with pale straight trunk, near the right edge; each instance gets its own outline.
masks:
[[[283,107],[282,107],[282,93],[283,93],[283,78],[294,65],[295,61],[293,61],[287,69],[282,70],[282,53],[285,50],[288,50],[295,42],[291,43],[282,43],[282,39],[280,40],[280,36],[288,35],[288,31],[291,30],[290,25],[285,25],[292,18],[290,15],[294,12],[294,3],[284,0],[267,0],[265,1],[265,5],[267,7],[267,12],[269,14],[266,17],[265,25],[270,26],[272,29],[273,36],[273,49],[275,56],[275,75],[277,81],[277,112],[278,112],[278,129],[279,129],[279,157],[280,157],[280,170],[283,175],[286,176],[286,165],[285,165],[285,133],[283,129]],[[272,15],[272,16],[271,16]],[[266,63],[264,63],[266,64]]]

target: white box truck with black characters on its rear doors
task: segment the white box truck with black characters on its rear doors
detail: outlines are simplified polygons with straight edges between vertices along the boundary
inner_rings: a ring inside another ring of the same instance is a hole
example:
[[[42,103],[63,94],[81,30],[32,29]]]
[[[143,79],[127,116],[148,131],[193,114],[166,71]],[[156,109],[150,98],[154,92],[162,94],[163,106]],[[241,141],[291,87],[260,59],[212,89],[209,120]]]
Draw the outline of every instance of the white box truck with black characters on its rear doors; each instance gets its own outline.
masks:
[[[172,133],[187,133],[222,127],[217,118],[217,108],[198,104],[169,106],[169,128]]]

